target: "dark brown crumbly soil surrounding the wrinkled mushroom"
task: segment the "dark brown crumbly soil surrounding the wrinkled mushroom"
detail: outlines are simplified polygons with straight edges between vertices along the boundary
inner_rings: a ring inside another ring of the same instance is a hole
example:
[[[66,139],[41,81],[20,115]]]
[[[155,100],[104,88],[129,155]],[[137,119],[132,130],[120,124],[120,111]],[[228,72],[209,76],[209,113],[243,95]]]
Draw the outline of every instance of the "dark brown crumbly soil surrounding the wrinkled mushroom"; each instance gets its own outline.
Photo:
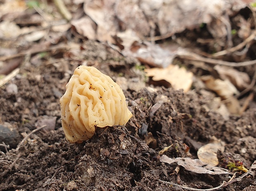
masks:
[[[88,47],[85,60],[114,80],[120,74],[126,79],[145,78],[136,70],[135,60],[116,56],[100,44]],[[161,182],[177,184],[173,173],[177,165],[161,163],[158,152],[173,144],[165,153],[170,158],[197,158],[197,149],[212,136],[226,143],[225,152],[240,154],[245,165],[256,160],[256,108],[225,121],[218,113],[206,112],[202,105],[211,98],[197,87],[188,93],[148,85],[139,91],[128,88],[124,93],[133,117],[126,127],[98,129],[90,140],[70,144],[61,127],[59,98],[78,64],[27,64],[0,89],[1,128],[6,132],[0,142],[11,147],[7,153],[0,147],[5,152],[0,158],[0,191],[183,191]],[[10,84],[16,84],[18,91],[7,91]],[[15,150],[45,121],[53,129],[33,133]],[[209,189],[228,177],[181,168],[180,179],[181,185]],[[248,176],[220,190],[255,191],[256,179]]]

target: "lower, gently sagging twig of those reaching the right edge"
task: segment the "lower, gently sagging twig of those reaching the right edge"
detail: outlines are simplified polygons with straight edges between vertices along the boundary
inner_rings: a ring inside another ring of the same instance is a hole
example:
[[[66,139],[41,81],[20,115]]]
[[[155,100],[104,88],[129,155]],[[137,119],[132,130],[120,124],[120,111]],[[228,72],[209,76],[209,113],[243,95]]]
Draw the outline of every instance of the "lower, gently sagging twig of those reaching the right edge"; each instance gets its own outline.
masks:
[[[198,54],[194,54],[190,51],[185,51],[185,50],[178,50],[177,56],[183,59],[191,60],[191,61],[202,61],[209,64],[218,64],[218,65],[225,65],[225,66],[231,66],[231,67],[240,67],[240,66],[248,66],[248,65],[256,64],[256,60],[235,63],[235,62],[216,60],[212,58],[204,58],[202,56],[199,56]]]

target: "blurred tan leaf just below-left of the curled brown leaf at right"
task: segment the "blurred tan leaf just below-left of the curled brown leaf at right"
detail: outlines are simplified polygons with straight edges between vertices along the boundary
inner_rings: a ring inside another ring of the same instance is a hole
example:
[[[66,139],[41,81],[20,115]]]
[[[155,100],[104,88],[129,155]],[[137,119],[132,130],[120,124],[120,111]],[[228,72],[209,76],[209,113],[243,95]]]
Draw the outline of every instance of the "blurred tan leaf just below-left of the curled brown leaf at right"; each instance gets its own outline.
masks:
[[[212,76],[202,76],[201,79],[208,89],[215,91],[223,99],[231,98],[239,93],[228,79],[223,81],[221,79],[214,79]]]

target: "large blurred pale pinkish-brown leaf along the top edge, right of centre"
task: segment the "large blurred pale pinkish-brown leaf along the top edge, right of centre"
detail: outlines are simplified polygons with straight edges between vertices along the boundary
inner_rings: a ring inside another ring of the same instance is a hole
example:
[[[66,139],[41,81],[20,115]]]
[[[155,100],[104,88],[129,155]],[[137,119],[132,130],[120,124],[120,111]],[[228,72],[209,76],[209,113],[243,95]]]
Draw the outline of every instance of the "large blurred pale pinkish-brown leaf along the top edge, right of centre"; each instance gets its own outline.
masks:
[[[141,7],[145,9],[143,12],[147,18],[157,17],[153,21],[157,23],[161,35],[172,35],[186,28],[196,28],[201,23],[210,23],[227,9],[241,9],[248,3],[242,0],[161,0],[158,3],[155,0],[142,0]]]

